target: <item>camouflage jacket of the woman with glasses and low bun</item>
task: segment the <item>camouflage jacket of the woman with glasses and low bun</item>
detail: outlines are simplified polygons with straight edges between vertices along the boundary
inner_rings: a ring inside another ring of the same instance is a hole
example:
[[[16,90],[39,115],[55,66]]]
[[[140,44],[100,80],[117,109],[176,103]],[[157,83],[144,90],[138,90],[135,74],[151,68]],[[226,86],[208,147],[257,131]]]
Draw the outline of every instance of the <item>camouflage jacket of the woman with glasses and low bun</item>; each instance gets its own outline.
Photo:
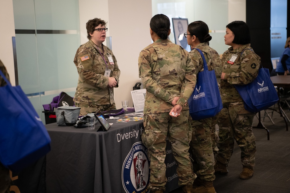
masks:
[[[217,51],[209,47],[206,42],[198,44],[195,48],[198,48],[202,51],[209,71],[215,70],[215,77],[220,89],[220,76],[222,74],[222,62],[220,60],[220,55]],[[189,52],[189,55],[191,56],[192,60],[195,60],[199,63],[199,66],[195,67],[197,73],[203,71],[203,60],[200,53],[196,49],[192,49]]]

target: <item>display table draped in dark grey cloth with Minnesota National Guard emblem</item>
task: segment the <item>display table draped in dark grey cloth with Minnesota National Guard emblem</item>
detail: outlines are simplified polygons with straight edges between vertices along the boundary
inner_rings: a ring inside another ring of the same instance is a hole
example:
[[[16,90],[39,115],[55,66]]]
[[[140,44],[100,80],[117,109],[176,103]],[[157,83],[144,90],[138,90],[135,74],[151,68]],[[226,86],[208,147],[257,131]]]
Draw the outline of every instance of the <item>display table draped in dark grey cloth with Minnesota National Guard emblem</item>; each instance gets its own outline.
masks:
[[[150,160],[141,142],[143,122],[107,120],[113,123],[107,132],[97,132],[99,123],[95,130],[56,123],[45,125],[51,138],[46,164],[47,193],[149,192]],[[178,177],[168,141],[166,154],[166,192],[170,192],[178,188]],[[137,163],[142,163],[143,170],[139,178]]]

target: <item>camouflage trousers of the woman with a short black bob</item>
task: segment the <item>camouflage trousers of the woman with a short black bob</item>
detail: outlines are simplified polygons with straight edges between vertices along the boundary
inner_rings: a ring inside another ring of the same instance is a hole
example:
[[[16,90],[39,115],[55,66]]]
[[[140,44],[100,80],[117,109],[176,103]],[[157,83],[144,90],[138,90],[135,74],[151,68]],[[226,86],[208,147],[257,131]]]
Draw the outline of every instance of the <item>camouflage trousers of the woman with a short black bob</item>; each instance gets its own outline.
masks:
[[[256,142],[252,131],[254,116],[255,113],[244,108],[243,101],[223,104],[218,118],[220,140],[217,161],[229,164],[236,141],[242,151],[242,165],[255,166]]]

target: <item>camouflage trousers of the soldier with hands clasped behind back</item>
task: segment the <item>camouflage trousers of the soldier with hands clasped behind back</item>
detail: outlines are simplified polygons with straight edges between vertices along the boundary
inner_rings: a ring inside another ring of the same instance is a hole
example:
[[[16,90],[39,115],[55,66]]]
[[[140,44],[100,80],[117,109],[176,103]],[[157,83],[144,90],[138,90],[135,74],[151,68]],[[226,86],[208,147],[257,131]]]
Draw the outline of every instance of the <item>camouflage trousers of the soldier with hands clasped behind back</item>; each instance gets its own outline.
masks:
[[[188,152],[192,132],[188,116],[188,110],[181,111],[179,117],[171,117],[169,113],[144,114],[142,141],[148,148],[151,169],[149,188],[153,191],[165,190],[167,183],[164,163],[167,137],[178,164],[178,185],[192,185],[196,178]]]

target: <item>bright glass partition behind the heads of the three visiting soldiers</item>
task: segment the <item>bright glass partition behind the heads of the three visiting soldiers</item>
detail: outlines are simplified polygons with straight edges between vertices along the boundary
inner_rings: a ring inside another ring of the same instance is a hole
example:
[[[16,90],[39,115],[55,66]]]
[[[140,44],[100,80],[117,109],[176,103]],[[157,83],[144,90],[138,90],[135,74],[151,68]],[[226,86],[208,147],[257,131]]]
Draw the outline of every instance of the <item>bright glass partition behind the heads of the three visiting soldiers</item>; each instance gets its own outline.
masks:
[[[212,40],[209,46],[223,54],[228,46],[224,44],[228,24],[229,0],[152,0],[152,16],[164,14],[171,22],[169,39],[175,43],[172,18],[186,18],[188,23],[204,21],[210,30]]]

